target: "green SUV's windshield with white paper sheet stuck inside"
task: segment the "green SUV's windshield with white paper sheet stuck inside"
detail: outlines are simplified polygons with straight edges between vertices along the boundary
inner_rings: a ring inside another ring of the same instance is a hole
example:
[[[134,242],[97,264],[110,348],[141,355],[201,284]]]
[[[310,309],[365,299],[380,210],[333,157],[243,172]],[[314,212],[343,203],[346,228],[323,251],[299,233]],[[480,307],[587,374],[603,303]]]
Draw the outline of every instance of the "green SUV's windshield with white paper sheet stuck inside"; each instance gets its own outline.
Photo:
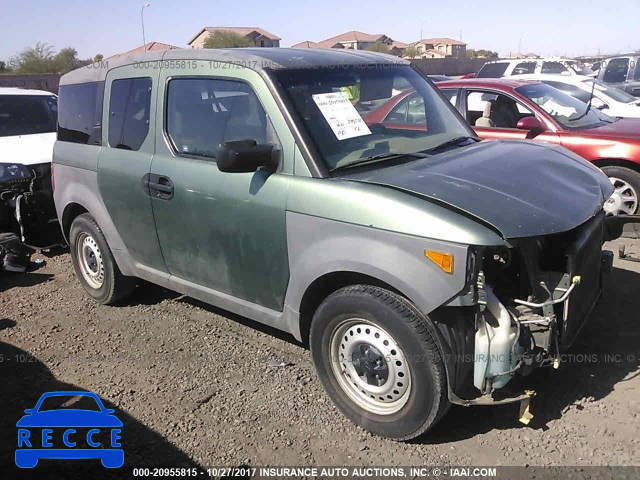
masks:
[[[473,132],[408,65],[274,72],[328,170],[421,152]]]

